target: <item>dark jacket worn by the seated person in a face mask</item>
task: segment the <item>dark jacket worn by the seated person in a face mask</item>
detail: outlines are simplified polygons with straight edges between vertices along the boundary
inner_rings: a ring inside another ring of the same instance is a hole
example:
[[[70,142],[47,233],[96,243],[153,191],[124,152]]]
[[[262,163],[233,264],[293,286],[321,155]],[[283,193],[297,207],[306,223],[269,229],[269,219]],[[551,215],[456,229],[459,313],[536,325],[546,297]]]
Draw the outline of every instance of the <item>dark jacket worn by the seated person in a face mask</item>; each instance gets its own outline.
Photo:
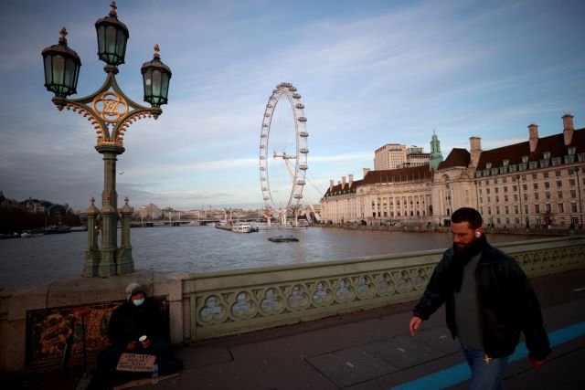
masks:
[[[154,300],[146,298],[140,306],[126,300],[118,306],[110,318],[108,338],[113,347],[125,349],[140,336],[151,340],[163,337],[162,315]]]

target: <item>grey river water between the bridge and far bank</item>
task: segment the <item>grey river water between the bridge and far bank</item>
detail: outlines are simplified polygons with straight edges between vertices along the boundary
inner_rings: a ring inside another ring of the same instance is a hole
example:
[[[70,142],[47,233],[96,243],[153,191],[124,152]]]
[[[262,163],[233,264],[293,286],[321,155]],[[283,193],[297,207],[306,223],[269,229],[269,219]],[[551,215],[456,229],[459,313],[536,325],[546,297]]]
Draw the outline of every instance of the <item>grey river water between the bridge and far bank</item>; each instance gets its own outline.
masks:
[[[299,242],[266,239],[274,235],[294,236]],[[487,238],[504,242],[537,237]],[[131,242],[135,269],[205,272],[447,248],[451,238],[439,232],[322,227],[237,234],[197,226],[133,228]],[[0,289],[80,275],[86,247],[86,232],[0,240]]]

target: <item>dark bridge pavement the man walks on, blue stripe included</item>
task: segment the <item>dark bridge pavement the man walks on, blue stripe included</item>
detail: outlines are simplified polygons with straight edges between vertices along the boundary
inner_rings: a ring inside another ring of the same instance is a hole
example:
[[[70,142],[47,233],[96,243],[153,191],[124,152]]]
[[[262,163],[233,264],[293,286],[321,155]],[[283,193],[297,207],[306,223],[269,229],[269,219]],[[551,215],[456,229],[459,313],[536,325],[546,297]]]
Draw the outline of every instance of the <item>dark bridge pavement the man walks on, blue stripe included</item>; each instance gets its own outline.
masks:
[[[507,390],[585,389],[585,269],[532,279],[552,353],[532,369],[521,343],[505,374]],[[338,315],[180,347],[185,369],[135,389],[465,389],[469,370],[444,310],[408,324],[414,302]],[[522,342],[522,341],[521,341]],[[16,374],[8,388],[83,389],[82,369]]]

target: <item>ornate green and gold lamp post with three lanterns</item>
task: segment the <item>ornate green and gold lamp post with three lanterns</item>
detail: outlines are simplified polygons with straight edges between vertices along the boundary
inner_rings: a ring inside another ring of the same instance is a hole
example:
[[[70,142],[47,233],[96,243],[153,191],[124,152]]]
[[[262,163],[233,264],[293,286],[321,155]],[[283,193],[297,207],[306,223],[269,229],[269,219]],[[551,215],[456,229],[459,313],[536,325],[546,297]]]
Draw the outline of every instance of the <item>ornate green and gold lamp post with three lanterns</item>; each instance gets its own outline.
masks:
[[[98,56],[106,63],[103,68],[107,77],[101,88],[80,99],[68,99],[77,93],[77,81],[81,61],[75,51],[67,46],[67,30],[61,29],[58,45],[45,47],[42,51],[45,65],[45,87],[55,93],[53,103],[78,112],[90,121],[98,134],[95,149],[103,156],[103,192],[101,208],[91,205],[88,216],[88,248],[85,251],[83,276],[107,277],[132,272],[134,268],[132,246],[130,245],[129,216],[132,207],[128,200],[118,210],[116,193],[116,161],[124,153],[123,133],[133,121],[144,117],[158,116],[163,112],[160,106],[166,104],[171,70],[160,60],[158,45],[154,47],[154,58],[142,67],[144,79],[144,101],[151,107],[144,107],[128,98],[116,82],[118,65],[124,63],[126,41],[130,36],[128,28],[118,20],[116,5],[112,1],[110,15],[95,23],[98,36]],[[118,248],[117,224],[122,215],[122,247]],[[101,248],[98,247],[98,219],[101,219]]]

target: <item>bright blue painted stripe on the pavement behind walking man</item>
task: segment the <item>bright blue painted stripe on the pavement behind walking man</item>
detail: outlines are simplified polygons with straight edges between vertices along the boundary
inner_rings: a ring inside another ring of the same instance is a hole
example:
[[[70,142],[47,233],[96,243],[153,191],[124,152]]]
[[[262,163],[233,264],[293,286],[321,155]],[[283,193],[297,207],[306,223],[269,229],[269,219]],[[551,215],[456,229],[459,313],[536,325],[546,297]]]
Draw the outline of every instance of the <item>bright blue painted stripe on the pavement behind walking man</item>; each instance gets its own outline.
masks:
[[[566,328],[558,329],[555,332],[549,332],[548,340],[550,341],[550,346],[554,347],[583,335],[585,335],[585,322],[580,322]],[[528,350],[526,343],[519,343],[516,347],[516,352],[508,358],[508,363],[516,362],[516,360],[523,359],[527,357],[527,355]],[[468,379],[470,375],[471,371],[466,363],[457,364],[437,373],[407,382],[406,384],[391,387],[390,390],[442,389],[452,385],[457,385]]]

